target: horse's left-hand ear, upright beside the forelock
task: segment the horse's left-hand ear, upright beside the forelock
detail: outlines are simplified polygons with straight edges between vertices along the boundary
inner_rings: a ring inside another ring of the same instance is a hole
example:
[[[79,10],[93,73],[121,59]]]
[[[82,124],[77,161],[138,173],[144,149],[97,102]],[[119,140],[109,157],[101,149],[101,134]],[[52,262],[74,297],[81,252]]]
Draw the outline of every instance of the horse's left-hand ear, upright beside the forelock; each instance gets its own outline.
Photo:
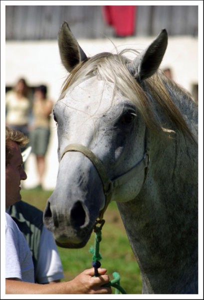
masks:
[[[77,63],[87,58],[66,21],[63,22],[59,29],[58,46],[61,61],[69,72]]]

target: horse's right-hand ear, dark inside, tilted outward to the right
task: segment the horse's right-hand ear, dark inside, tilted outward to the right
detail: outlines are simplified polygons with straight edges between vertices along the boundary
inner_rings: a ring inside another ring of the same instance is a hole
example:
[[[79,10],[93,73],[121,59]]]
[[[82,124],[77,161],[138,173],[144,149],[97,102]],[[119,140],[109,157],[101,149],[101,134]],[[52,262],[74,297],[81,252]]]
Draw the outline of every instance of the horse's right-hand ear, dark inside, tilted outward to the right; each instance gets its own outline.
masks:
[[[152,76],[160,66],[167,48],[168,34],[163,29],[155,40],[127,65],[138,82]]]

